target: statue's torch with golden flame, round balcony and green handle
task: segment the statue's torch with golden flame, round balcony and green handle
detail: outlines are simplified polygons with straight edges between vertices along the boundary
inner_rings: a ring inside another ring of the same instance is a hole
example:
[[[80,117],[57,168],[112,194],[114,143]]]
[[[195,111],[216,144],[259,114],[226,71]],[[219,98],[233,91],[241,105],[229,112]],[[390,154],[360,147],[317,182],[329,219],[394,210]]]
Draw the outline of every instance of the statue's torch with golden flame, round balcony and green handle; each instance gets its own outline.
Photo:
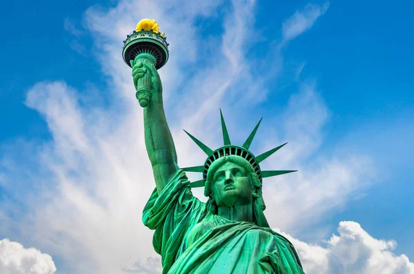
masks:
[[[158,70],[168,61],[168,43],[164,33],[159,32],[155,20],[142,19],[137,29],[126,36],[122,57],[125,63],[132,68],[135,62],[147,60]],[[135,96],[139,105],[148,106],[151,98],[151,75],[146,72],[144,77],[138,79]]]

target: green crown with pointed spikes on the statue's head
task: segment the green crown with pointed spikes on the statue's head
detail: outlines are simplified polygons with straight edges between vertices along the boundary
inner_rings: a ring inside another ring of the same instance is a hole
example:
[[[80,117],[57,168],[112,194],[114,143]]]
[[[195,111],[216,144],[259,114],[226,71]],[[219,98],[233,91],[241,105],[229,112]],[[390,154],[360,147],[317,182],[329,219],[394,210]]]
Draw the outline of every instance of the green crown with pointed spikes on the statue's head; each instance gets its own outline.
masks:
[[[212,150],[208,148],[208,146],[206,146],[201,141],[199,141],[197,138],[195,138],[193,135],[190,135],[190,133],[184,130],[187,133],[187,135],[190,136],[190,138],[193,139],[193,141],[195,141],[195,144],[197,144],[197,146],[199,146],[199,148],[201,148],[201,150],[203,150],[204,153],[206,153],[208,156],[203,166],[191,166],[188,168],[181,168],[184,171],[203,173],[203,179],[196,181],[196,182],[192,182],[191,187],[198,188],[198,187],[204,186],[206,179],[207,179],[208,168],[210,168],[211,164],[213,164],[213,162],[215,162],[217,159],[224,157],[224,156],[228,156],[228,155],[237,155],[239,157],[246,159],[251,164],[251,166],[253,166],[253,169],[255,170],[255,173],[257,177],[259,178],[260,182],[262,182],[262,179],[265,177],[272,177],[272,176],[282,175],[286,173],[293,173],[297,171],[297,170],[260,170],[260,166],[259,166],[260,162],[262,162],[264,159],[266,159],[267,157],[269,157],[270,155],[272,155],[277,150],[279,150],[280,148],[282,148],[284,145],[287,144],[285,143],[280,146],[277,146],[271,150],[266,151],[266,153],[262,153],[261,155],[257,157],[255,157],[255,155],[253,155],[253,153],[250,150],[248,150],[248,148],[250,147],[250,144],[253,141],[253,138],[256,135],[257,128],[259,128],[260,122],[262,121],[263,118],[259,120],[255,128],[253,129],[252,133],[250,133],[250,135],[244,142],[243,146],[237,146],[237,145],[233,145],[230,143],[230,137],[228,136],[226,123],[224,122],[224,118],[223,118],[223,114],[221,113],[221,110],[220,110],[220,116],[221,116],[221,130],[223,131],[224,146],[221,146],[220,148],[217,148],[216,150]]]

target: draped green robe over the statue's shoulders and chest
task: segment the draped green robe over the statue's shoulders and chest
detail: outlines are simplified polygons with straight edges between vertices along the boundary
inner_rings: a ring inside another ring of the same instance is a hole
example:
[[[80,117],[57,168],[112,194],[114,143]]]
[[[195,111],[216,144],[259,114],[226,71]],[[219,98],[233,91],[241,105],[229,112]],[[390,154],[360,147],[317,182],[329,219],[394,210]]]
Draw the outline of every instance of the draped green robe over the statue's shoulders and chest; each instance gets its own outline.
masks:
[[[182,170],[160,194],[152,192],[143,221],[155,229],[152,244],[163,274],[304,274],[288,239],[270,228],[213,215],[193,196]]]

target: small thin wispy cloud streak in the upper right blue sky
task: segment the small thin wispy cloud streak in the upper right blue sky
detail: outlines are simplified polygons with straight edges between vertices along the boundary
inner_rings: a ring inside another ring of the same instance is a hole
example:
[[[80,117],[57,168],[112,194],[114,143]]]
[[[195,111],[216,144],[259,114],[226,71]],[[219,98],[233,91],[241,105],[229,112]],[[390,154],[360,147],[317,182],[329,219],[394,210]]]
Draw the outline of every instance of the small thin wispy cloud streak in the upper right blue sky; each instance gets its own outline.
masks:
[[[308,4],[304,10],[297,10],[292,17],[284,21],[282,27],[282,36],[284,41],[292,40],[302,35],[303,32],[312,28],[315,21],[329,8],[329,2],[322,6],[316,4]]]

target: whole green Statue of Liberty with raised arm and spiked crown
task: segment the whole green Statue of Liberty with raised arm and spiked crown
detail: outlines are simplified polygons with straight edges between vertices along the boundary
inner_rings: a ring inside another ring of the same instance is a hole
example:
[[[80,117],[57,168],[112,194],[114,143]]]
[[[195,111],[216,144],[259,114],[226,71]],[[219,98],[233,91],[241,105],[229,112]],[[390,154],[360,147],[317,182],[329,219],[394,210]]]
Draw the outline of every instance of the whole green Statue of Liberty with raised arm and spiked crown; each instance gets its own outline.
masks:
[[[152,28],[151,35],[164,37],[157,30]],[[187,133],[207,159],[202,166],[179,168],[164,112],[159,60],[146,52],[135,57],[130,66],[140,104],[144,98],[146,150],[156,185],[143,222],[155,230],[152,243],[161,255],[163,274],[304,274],[293,245],[269,228],[263,213],[262,179],[294,170],[263,171],[259,163],[284,145],[255,157],[248,148],[260,121],[245,143],[236,146],[230,143],[221,115],[224,146],[212,150]],[[139,94],[140,86],[147,87],[146,94]],[[203,179],[191,183],[186,171],[201,172]],[[200,186],[208,197],[206,203],[191,192]]]

